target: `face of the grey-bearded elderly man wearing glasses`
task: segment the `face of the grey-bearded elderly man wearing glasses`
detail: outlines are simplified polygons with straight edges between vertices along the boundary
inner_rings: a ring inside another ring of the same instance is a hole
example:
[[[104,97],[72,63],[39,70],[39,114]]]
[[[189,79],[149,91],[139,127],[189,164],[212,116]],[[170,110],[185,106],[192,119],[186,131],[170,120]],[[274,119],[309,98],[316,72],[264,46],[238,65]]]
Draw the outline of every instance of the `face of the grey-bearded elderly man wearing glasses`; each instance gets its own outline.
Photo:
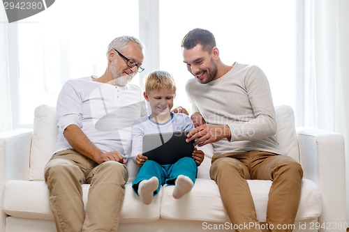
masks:
[[[120,51],[121,52],[121,51]],[[128,42],[128,45],[122,49],[122,54],[128,59],[135,61],[138,65],[142,65],[144,54],[142,48],[135,42]],[[118,86],[126,86],[128,82],[137,74],[137,66],[130,68],[127,62],[114,49],[110,51],[110,75],[112,80]]]

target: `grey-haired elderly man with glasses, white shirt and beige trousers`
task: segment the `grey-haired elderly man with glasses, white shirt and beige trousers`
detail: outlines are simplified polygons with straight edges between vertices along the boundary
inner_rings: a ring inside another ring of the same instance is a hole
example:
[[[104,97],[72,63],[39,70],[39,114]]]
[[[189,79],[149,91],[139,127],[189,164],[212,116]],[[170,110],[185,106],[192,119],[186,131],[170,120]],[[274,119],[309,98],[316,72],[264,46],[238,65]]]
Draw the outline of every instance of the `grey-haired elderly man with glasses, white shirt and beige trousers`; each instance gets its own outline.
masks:
[[[45,167],[57,231],[117,231],[131,127],[147,116],[142,89],[129,84],[142,72],[144,45],[115,38],[101,77],[70,79],[57,100],[59,135]],[[81,184],[91,184],[84,212]]]

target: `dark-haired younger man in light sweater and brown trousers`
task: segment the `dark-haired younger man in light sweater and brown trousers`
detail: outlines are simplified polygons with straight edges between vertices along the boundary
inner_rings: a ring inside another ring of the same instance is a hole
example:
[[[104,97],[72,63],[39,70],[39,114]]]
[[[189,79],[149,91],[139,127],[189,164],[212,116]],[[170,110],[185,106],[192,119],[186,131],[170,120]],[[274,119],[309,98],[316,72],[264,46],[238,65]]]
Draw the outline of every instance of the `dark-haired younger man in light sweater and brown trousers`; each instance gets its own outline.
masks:
[[[294,224],[303,171],[283,155],[276,141],[267,77],[254,65],[223,63],[214,35],[205,29],[189,31],[181,47],[184,63],[195,77],[186,84],[195,111],[191,116],[195,129],[187,140],[197,139],[198,146],[214,144],[210,176],[231,222],[259,224],[246,179],[260,179],[273,181],[267,205],[269,230]]]

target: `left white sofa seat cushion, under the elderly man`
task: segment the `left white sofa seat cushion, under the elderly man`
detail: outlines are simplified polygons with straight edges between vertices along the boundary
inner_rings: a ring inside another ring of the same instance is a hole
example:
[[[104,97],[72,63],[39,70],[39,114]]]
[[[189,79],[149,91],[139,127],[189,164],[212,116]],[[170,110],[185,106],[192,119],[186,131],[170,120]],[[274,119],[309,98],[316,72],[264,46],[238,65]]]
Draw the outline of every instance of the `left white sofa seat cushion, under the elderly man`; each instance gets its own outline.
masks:
[[[82,185],[85,207],[88,191],[89,185]],[[154,222],[159,219],[161,194],[162,189],[146,206],[133,192],[131,183],[127,183],[120,222]],[[3,212],[13,217],[53,220],[48,198],[47,185],[43,181],[9,180],[3,192]]]

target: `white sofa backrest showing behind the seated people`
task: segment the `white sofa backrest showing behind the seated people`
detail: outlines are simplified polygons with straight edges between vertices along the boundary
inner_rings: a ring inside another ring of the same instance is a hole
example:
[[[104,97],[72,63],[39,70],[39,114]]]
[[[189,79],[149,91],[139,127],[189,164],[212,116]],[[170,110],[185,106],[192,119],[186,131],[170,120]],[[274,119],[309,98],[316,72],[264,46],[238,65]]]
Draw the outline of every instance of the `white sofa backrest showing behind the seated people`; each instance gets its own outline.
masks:
[[[295,118],[292,108],[289,106],[276,106],[276,123],[278,130],[276,138],[279,141],[285,155],[289,155],[299,162],[299,152],[297,137],[295,131]],[[31,144],[31,157],[29,167],[29,180],[43,180],[44,168],[52,156],[54,144],[57,141],[57,116],[56,108],[53,106],[40,105],[34,112],[34,134]],[[206,153],[207,160],[210,160],[211,154]],[[130,172],[129,180],[133,180],[138,169],[133,162],[128,165]],[[209,162],[207,162],[209,163]],[[202,165],[204,168],[205,165]],[[201,172],[207,172],[209,166]],[[208,175],[203,175],[208,178]]]

